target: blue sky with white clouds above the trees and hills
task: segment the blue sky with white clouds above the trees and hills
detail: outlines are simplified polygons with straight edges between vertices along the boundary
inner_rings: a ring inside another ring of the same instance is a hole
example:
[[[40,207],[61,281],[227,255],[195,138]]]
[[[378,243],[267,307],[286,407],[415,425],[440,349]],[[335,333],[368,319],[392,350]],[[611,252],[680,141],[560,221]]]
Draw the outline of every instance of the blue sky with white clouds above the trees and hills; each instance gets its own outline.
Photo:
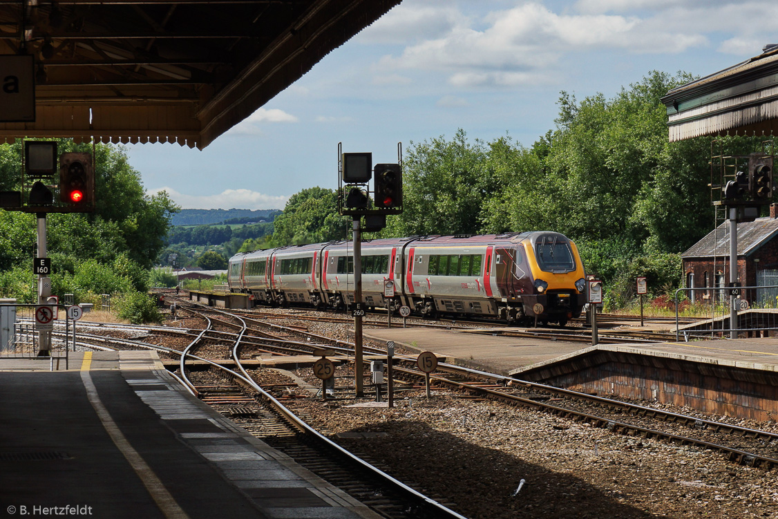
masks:
[[[283,209],[338,187],[338,143],[374,163],[458,128],[529,147],[555,128],[561,91],[710,75],[778,44],[766,20],[775,0],[404,0],[202,151],[127,152],[149,194],[183,209]]]

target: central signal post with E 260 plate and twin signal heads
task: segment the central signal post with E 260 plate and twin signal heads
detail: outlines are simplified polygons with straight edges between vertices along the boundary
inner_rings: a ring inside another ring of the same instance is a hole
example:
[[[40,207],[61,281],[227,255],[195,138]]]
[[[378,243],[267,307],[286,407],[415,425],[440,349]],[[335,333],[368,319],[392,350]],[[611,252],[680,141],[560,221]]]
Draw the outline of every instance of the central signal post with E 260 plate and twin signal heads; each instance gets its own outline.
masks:
[[[354,251],[354,387],[357,398],[365,395],[362,318],[362,233],[377,232],[386,226],[387,215],[402,212],[402,148],[398,143],[398,163],[376,164],[372,153],[342,153],[338,144],[338,212],[352,216]],[[374,188],[369,183],[375,171]],[[370,192],[374,207],[370,208]],[[365,225],[362,225],[362,218]],[[347,262],[348,263],[348,262]],[[348,268],[347,268],[348,270]],[[390,304],[391,306],[391,304]]]

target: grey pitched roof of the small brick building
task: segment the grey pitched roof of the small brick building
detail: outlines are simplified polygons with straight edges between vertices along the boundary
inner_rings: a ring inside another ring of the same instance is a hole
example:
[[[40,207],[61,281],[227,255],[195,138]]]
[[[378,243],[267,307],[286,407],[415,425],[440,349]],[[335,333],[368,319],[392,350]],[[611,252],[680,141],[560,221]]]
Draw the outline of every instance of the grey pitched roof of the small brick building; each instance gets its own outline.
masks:
[[[682,258],[709,258],[729,254],[728,223],[724,222],[681,254]],[[750,256],[778,234],[778,219],[757,218],[738,223],[738,256]]]

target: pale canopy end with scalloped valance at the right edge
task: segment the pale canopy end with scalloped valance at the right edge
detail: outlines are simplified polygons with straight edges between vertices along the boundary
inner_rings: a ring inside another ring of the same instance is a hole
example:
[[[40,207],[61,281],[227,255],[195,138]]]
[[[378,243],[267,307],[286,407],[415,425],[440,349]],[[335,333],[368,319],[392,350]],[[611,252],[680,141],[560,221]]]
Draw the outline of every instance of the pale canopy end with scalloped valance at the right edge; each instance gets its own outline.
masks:
[[[770,135],[778,130],[778,45],[672,89],[662,102],[671,142],[725,133]]]

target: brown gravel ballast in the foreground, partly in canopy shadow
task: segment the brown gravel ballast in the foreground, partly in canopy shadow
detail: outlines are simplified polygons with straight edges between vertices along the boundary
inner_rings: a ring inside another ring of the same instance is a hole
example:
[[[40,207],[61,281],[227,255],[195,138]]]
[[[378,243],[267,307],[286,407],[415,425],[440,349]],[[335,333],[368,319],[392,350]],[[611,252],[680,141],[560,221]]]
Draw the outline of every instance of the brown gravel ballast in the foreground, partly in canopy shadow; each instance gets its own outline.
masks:
[[[321,335],[346,335],[344,324],[304,325]],[[293,380],[278,370],[253,374],[261,384]],[[310,370],[298,370],[296,376],[321,387]],[[339,367],[336,377],[337,387],[351,386],[345,368]],[[305,391],[274,391],[288,392]],[[619,436],[534,409],[474,402],[443,390],[433,390],[429,401],[423,390],[406,390],[394,409],[353,407],[370,404],[345,391],[338,395],[342,399],[335,402],[298,398],[288,405],[306,412],[311,425],[345,447],[472,519],[778,517],[778,471],[735,465],[718,452]],[[775,430],[774,424],[748,426]],[[770,447],[778,458],[778,444]]]

